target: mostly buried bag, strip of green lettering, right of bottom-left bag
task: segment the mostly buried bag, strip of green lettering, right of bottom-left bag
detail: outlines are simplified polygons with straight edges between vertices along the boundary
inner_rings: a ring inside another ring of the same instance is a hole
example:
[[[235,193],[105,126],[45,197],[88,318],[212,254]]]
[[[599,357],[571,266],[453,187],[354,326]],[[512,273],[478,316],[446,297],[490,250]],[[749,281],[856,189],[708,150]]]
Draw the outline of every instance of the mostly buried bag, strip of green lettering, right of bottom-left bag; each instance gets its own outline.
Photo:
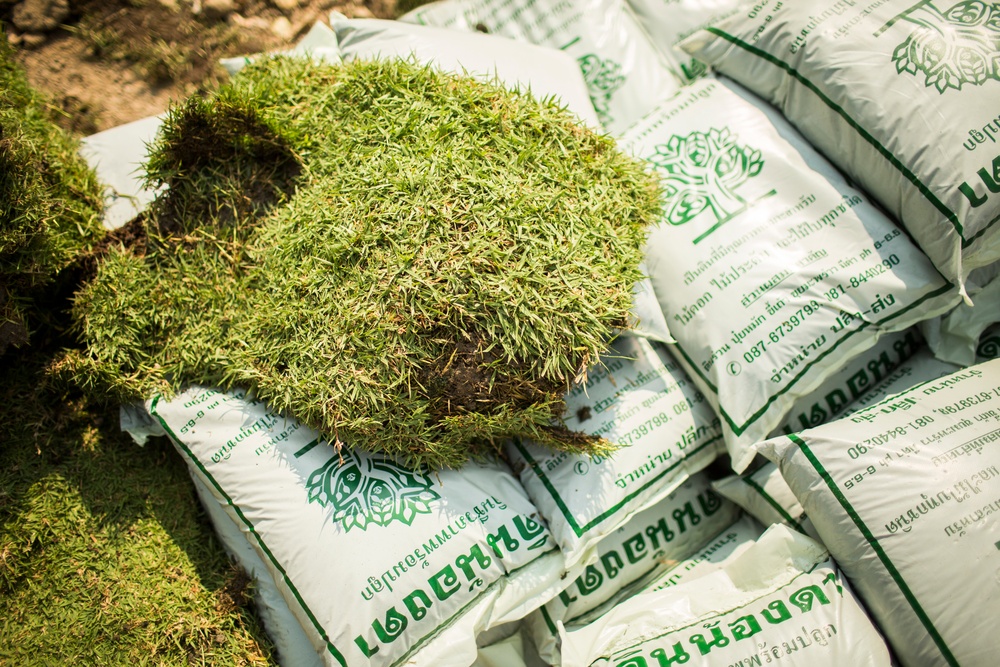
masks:
[[[541,657],[558,662],[556,621],[574,623],[612,598],[624,599],[641,590],[704,547],[738,516],[739,508],[721,500],[704,473],[636,514],[597,545],[595,562],[525,621]]]

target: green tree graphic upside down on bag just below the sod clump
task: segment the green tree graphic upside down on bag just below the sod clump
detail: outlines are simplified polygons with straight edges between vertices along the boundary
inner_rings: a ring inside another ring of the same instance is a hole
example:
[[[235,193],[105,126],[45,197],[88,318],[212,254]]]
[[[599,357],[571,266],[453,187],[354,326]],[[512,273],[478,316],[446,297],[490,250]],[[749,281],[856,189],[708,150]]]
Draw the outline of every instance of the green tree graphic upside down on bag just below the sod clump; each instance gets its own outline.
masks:
[[[309,502],[332,507],[333,522],[341,523],[345,532],[393,521],[409,526],[417,514],[429,514],[430,503],[440,498],[426,475],[346,448],[313,471],[306,488]]]

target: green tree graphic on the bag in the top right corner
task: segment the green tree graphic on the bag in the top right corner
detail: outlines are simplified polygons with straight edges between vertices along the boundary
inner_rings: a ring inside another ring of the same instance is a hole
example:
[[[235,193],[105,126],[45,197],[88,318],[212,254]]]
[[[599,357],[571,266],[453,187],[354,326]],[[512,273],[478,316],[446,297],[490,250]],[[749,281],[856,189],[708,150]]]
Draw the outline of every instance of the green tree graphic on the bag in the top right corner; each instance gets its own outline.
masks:
[[[1000,80],[1000,3],[964,0],[942,12],[924,0],[897,18],[918,26],[892,53],[898,73],[923,72],[939,93]]]

